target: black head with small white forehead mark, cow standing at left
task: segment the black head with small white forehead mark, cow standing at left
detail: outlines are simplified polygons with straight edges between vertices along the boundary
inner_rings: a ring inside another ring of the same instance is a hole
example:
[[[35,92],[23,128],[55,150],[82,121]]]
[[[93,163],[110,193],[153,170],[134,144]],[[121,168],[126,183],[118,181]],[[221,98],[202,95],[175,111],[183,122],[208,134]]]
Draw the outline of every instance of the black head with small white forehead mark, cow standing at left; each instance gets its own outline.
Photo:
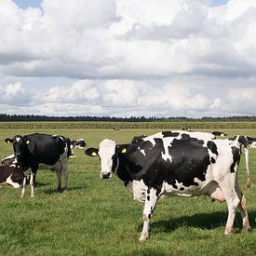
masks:
[[[25,140],[22,136],[16,135],[13,139],[7,138],[5,140],[8,144],[12,144],[13,151],[15,155],[14,163],[19,163],[20,158],[23,157],[25,152],[27,151],[27,145],[30,143],[29,140]]]

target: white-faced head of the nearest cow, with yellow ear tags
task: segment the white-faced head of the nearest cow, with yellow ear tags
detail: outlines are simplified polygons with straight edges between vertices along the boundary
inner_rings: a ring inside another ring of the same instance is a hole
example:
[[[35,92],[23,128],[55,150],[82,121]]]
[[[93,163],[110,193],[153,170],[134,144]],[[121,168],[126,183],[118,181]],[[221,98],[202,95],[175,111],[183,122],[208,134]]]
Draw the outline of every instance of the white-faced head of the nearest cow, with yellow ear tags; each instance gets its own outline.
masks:
[[[113,173],[118,168],[118,152],[121,148],[116,146],[115,141],[105,139],[101,141],[99,149],[88,148],[85,153],[89,156],[99,156],[101,160],[101,179],[112,178]],[[123,148],[122,148],[123,150]]]

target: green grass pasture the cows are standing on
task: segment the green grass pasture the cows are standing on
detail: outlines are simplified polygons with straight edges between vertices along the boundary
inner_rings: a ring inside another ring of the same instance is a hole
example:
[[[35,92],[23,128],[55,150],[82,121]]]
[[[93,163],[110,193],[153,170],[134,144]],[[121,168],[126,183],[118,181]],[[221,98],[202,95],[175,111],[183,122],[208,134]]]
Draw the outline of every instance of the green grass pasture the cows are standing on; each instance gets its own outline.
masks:
[[[12,154],[4,142],[7,137],[34,132],[83,138],[88,147],[98,147],[102,139],[119,143],[134,135],[154,134],[160,129],[81,129],[81,128],[8,128],[0,131],[0,157]],[[206,129],[204,131],[207,131]],[[224,129],[256,137],[256,129]],[[114,176],[100,179],[97,157],[74,149],[69,160],[69,191],[57,193],[56,175],[38,170],[35,197],[28,187],[24,198],[20,190],[0,188],[1,255],[256,255],[256,150],[249,151],[252,187],[245,186],[244,155],[239,166],[239,184],[248,198],[249,220],[253,228],[241,233],[240,215],[236,214],[235,234],[224,236],[227,218],[225,203],[208,197],[168,197],[159,200],[151,222],[151,237],[139,242],[142,204]]]

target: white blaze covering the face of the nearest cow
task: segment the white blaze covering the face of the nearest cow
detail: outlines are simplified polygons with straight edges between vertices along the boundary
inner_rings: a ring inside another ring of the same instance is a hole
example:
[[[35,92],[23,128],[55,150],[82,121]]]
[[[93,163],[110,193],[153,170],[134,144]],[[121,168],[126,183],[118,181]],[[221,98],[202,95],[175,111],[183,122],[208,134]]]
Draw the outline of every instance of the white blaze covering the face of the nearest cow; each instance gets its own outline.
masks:
[[[115,155],[115,141],[105,139],[101,141],[98,155],[101,158],[101,175],[110,174],[112,176],[113,155]]]

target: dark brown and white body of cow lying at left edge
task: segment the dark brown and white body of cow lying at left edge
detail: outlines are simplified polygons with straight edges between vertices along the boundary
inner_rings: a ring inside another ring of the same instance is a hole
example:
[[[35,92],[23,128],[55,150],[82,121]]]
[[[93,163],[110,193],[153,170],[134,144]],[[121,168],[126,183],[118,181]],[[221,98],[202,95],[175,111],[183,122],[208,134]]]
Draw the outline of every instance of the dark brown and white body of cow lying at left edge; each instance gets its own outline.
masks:
[[[0,166],[0,183],[9,184],[19,188],[23,181],[23,172],[21,168],[11,166]]]

